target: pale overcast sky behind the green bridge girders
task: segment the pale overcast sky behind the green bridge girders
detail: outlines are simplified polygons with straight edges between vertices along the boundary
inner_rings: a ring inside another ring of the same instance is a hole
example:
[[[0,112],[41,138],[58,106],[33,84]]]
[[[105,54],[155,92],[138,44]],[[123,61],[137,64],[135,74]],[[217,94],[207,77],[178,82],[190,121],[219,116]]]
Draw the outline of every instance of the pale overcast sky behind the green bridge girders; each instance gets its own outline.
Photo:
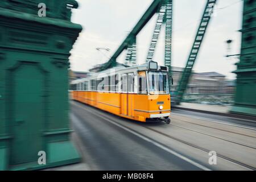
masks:
[[[147,10],[152,0],[77,0],[79,9],[73,10],[72,22],[82,25],[83,30],[71,51],[71,68],[88,71],[96,64],[108,61],[129,31]],[[172,27],[172,66],[184,67],[196,36],[206,0],[174,0]],[[218,0],[214,16],[208,26],[199,55],[193,67],[195,72],[218,72],[229,79],[239,60],[225,57],[240,53],[242,27],[241,0]],[[137,36],[137,63],[146,61],[156,15]],[[233,40],[228,52],[226,40]],[[110,51],[97,51],[109,48]],[[117,59],[125,61],[124,51]],[[164,32],[160,34],[155,61],[164,64]]]

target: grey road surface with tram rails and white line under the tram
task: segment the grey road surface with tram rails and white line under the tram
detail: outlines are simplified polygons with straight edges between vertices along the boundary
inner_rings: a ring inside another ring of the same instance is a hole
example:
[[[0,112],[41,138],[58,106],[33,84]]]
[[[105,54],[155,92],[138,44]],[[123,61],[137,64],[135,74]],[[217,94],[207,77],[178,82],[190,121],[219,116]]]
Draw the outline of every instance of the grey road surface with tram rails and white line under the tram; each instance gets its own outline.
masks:
[[[166,125],[130,121],[74,101],[71,109],[72,126],[86,164],[77,164],[76,169],[256,168],[254,122],[209,114],[198,117],[195,112],[177,110],[171,115],[171,125]],[[217,152],[217,165],[208,163],[209,151]]]

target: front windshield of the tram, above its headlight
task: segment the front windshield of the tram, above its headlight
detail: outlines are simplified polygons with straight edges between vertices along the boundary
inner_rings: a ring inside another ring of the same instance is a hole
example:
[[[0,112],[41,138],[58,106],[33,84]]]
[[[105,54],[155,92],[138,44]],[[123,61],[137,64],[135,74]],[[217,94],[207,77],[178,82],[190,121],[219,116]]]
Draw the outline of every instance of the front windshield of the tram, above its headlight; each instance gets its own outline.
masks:
[[[148,72],[148,89],[151,95],[170,94],[167,72]]]

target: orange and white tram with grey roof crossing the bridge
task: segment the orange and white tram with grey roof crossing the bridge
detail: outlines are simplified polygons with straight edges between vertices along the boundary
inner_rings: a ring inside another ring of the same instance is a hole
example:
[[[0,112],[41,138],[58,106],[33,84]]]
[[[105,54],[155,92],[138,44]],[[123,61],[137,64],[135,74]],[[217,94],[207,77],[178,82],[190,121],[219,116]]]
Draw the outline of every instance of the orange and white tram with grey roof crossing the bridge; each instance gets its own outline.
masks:
[[[154,61],[115,67],[71,83],[73,100],[124,118],[170,123],[168,68]]]

